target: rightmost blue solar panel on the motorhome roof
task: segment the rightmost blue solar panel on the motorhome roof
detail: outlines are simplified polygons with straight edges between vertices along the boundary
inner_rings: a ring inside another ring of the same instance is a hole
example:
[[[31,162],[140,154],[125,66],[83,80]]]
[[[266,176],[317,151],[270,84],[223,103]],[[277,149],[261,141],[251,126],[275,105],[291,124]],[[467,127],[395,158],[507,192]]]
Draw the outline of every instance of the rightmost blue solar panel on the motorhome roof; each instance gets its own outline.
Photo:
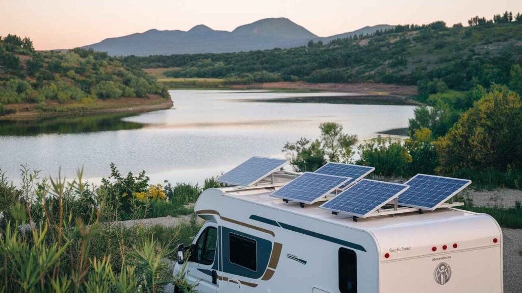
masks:
[[[434,210],[471,184],[470,180],[417,174],[405,184],[410,189],[399,196],[399,204]]]

